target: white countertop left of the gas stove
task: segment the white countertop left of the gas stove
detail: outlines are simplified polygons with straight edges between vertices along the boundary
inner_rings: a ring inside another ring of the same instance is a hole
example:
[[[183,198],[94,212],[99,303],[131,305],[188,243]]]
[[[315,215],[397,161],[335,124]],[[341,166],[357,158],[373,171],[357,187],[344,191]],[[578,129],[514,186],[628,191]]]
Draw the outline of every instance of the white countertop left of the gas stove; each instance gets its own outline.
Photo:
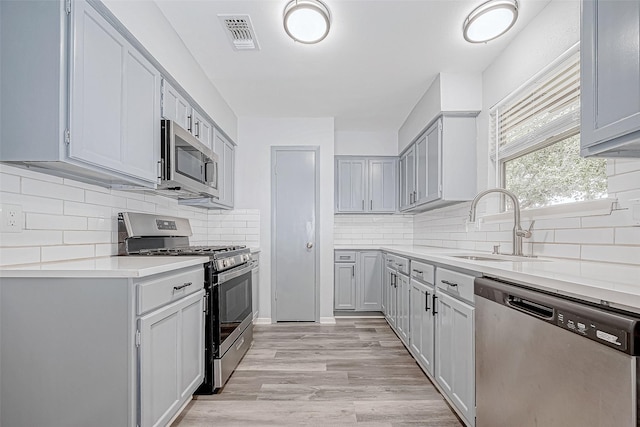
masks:
[[[204,264],[209,257],[113,256],[58,262],[20,264],[0,268],[0,277],[146,277]]]

